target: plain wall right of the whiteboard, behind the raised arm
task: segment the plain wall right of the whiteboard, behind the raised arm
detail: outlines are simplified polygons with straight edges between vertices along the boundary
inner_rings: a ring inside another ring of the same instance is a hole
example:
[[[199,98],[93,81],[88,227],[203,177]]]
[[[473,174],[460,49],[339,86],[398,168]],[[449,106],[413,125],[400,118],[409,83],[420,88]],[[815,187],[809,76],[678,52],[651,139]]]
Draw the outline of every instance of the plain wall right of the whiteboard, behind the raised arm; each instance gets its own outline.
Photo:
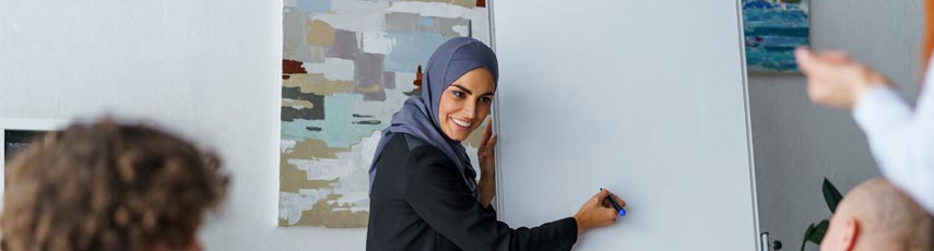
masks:
[[[922,11],[918,0],[812,0],[812,44],[851,52],[913,97]],[[807,225],[830,216],[824,177],[846,193],[879,172],[852,116],[811,104],[803,76],[754,74],[748,82],[759,224],[797,249]]]

